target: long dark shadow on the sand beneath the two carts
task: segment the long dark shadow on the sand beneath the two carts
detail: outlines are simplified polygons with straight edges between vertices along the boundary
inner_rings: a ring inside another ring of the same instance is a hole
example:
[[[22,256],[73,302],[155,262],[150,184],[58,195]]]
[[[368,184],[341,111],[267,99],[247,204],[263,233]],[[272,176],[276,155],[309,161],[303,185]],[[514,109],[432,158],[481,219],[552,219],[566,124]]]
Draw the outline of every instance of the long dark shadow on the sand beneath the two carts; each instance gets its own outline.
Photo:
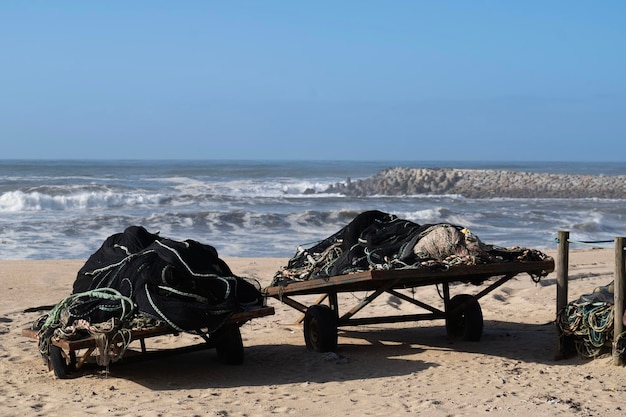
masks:
[[[339,331],[337,353],[311,352],[304,344],[254,345],[245,348],[243,365],[224,365],[214,350],[161,355],[110,367],[109,377],[134,381],[152,390],[271,386],[366,380],[419,373],[446,366],[446,354],[467,352],[527,363],[571,365],[577,357],[554,360],[554,323],[485,321],[480,342],[453,340],[444,326]],[[428,351],[430,361],[420,359]],[[433,351],[441,360],[433,361]],[[94,369],[87,369],[93,373]],[[77,376],[80,376],[79,372]]]

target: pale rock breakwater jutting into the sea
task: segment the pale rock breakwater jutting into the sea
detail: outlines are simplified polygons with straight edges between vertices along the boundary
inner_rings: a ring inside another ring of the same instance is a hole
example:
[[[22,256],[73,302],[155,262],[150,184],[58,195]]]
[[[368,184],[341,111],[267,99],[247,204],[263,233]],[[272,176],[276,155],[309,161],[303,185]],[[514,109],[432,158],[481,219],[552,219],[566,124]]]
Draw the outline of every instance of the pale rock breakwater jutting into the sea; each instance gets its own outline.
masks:
[[[373,177],[334,184],[325,191],[371,195],[461,195],[466,198],[626,199],[626,178],[454,168],[389,168]]]

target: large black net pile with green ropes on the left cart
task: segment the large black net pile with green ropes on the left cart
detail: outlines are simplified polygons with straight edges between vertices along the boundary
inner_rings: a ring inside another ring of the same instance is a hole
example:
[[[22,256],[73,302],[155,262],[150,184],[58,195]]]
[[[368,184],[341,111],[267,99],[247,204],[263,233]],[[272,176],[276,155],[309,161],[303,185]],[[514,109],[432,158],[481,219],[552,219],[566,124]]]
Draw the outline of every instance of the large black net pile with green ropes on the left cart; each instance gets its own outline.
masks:
[[[232,314],[263,303],[260,284],[234,275],[214,247],[131,226],[105,240],[79,270],[73,293],[33,328],[44,355],[52,337],[94,336],[108,362],[111,353],[121,357],[133,329],[169,326],[207,337]],[[107,349],[113,340],[117,352]]]

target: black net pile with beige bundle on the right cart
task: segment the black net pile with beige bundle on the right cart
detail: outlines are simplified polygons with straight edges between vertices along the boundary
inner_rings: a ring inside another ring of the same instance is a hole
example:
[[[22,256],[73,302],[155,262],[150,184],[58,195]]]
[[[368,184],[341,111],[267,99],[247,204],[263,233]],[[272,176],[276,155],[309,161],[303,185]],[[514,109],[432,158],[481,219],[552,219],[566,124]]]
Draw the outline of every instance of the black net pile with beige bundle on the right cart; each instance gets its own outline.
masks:
[[[373,269],[449,268],[459,264],[541,261],[547,257],[535,249],[484,244],[462,226],[420,225],[372,210],[357,215],[316,245],[299,247],[275,274],[272,285]]]

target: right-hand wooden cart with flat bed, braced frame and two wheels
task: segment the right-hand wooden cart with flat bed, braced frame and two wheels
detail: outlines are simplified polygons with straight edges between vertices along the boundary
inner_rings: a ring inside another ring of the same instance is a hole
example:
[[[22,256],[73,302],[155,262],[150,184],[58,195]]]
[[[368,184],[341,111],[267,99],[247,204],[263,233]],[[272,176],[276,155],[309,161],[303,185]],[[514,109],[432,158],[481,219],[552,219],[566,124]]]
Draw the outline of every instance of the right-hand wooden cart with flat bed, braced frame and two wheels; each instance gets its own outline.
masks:
[[[518,274],[545,276],[554,271],[554,260],[550,257],[541,261],[503,262],[482,265],[456,265],[447,269],[428,268],[401,270],[371,270],[329,278],[308,281],[289,281],[263,289],[266,296],[304,313],[304,339],[307,348],[320,352],[334,351],[337,348],[337,328],[378,323],[395,323],[421,320],[443,319],[446,331],[452,337],[464,340],[480,339],[483,331],[483,316],[478,300],[495,290]],[[450,284],[471,282],[478,285],[497,280],[474,295],[457,294],[450,296]],[[431,306],[399,292],[400,289],[441,286],[443,308]],[[358,302],[344,314],[339,313],[337,295],[339,293],[367,291],[365,299]],[[379,295],[388,293],[424,310],[424,313],[391,315],[383,317],[354,317],[361,309]],[[307,306],[294,297],[321,294],[312,305]],[[328,300],[328,305],[322,304]]]

